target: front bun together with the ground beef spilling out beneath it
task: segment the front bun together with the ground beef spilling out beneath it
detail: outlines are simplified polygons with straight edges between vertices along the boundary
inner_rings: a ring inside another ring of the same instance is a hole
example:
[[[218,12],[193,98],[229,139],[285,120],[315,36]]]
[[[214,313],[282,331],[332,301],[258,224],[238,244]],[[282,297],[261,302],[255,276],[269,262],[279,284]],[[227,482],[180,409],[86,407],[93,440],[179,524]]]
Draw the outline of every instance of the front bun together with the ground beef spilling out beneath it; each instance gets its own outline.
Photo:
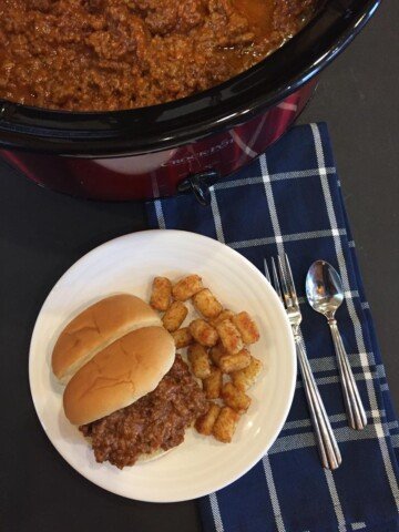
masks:
[[[96,461],[120,469],[178,446],[206,411],[204,392],[162,327],[132,331],[96,354],[69,381],[63,406],[91,438]]]

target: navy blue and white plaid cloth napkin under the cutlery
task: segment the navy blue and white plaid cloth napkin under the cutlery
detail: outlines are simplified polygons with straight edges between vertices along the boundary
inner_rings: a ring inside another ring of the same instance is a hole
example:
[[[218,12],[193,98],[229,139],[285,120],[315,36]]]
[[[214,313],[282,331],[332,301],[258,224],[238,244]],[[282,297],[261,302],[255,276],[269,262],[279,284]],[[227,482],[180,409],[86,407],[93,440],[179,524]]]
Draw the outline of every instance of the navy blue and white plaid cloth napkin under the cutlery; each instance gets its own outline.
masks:
[[[152,227],[217,238],[254,263],[285,249],[304,314],[303,334],[342,454],[321,468],[298,377],[294,403],[267,456],[234,484],[200,500],[205,532],[396,532],[399,530],[399,429],[358,269],[325,124],[294,127],[253,162],[211,190],[212,204],[191,196],[147,204]],[[337,361],[325,318],[305,303],[317,258],[340,273],[346,290],[337,318],[368,417],[348,428]]]

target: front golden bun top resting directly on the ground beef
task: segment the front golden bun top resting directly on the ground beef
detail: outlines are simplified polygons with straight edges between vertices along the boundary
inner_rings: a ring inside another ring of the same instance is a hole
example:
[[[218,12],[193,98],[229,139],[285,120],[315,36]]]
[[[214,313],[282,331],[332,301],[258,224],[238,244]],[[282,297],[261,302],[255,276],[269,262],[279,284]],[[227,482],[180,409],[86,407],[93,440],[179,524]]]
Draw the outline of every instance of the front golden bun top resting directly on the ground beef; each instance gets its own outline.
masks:
[[[172,336],[144,327],[117,339],[86,362],[63,395],[66,418],[86,424],[153,391],[175,359]]]

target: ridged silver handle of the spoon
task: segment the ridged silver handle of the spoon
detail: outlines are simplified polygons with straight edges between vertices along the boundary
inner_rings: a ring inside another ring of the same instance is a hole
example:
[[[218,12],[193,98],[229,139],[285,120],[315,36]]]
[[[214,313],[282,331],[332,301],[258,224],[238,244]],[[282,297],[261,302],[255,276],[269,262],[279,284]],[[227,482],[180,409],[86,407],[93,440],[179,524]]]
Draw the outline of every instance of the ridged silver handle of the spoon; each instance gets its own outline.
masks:
[[[328,319],[328,325],[330,326],[337,354],[345,407],[349,418],[349,427],[356,430],[362,430],[367,426],[367,416],[344,347],[342,338],[338,330],[337,320],[334,318]]]

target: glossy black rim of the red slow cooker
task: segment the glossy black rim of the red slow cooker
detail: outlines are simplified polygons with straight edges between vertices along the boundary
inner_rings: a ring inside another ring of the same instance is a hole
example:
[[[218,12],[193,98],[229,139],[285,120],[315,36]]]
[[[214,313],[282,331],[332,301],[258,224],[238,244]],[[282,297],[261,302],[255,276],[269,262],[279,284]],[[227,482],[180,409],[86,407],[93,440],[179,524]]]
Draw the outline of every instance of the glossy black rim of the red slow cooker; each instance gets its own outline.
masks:
[[[78,113],[0,101],[0,147],[70,156],[123,156],[176,147],[231,129],[318,74],[357,35],[379,3],[328,0],[297,35],[257,65],[174,102]]]

